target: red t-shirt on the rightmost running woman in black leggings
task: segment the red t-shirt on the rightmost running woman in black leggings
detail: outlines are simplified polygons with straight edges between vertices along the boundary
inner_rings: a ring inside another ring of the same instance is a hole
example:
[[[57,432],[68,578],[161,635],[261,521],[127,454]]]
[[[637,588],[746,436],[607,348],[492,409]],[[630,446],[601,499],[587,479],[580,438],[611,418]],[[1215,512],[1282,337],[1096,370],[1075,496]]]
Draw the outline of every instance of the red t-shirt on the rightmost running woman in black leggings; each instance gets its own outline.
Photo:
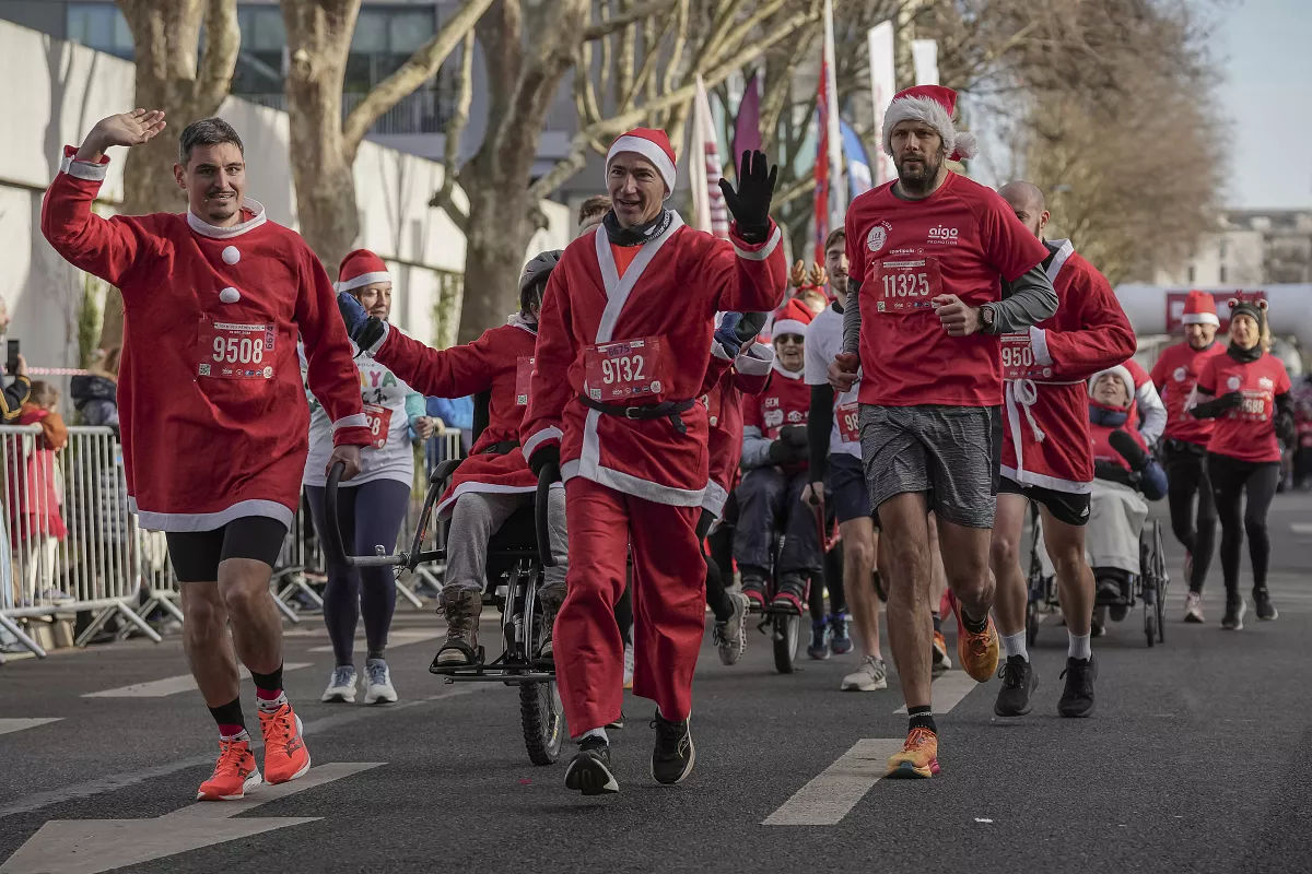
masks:
[[[1262,355],[1256,362],[1236,362],[1229,355],[1212,355],[1198,377],[1198,390],[1220,397],[1240,392],[1242,404],[1215,419],[1207,451],[1240,461],[1279,461],[1275,440],[1275,396],[1291,388],[1284,364]]]

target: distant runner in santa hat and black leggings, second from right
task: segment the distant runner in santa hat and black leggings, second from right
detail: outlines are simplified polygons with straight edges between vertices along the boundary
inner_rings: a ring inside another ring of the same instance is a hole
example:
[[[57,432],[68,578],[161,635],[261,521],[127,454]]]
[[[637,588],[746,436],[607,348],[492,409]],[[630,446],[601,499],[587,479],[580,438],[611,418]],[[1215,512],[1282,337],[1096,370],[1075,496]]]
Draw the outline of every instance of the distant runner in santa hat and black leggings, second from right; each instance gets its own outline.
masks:
[[[1207,478],[1207,442],[1212,436],[1212,419],[1190,415],[1189,404],[1198,385],[1198,376],[1208,359],[1224,355],[1216,342],[1220,318],[1216,300],[1206,291],[1190,291],[1185,299],[1185,342],[1162,350],[1152,368],[1152,381],[1166,405],[1166,430],[1162,434],[1162,456],[1170,484],[1170,527],[1185,546],[1185,621],[1203,621],[1203,583],[1212,563],[1216,542],[1216,504],[1212,484]]]

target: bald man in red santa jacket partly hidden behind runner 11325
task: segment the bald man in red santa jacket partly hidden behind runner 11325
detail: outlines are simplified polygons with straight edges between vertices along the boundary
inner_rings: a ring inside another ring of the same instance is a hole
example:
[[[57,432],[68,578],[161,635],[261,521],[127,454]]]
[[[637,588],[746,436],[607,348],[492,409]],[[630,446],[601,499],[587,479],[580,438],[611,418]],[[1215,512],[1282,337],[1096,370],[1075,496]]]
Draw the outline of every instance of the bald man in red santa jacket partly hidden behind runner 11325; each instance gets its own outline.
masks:
[[[1002,477],[989,565],[997,579],[993,613],[1006,662],[993,713],[1025,715],[1039,685],[1025,641],[1029,587],[1019,558],[1033,501],[1043,519],[1043,541],[1067,620],[1067,683],[1057,713],[1085,717],[1093,710],[1097,676],[1089,647],[1094,580],[1084,556],[1093,481],[1085,380],[1126,360],[1135,351],[1135,334],[1106,278],[1069,240],[1043,238],[1050,218],[1043,191],[1030,182],[1012,182],[998,194],[1047,248],[1043,269],[1060,303],[1051,318],[1002,335]]]

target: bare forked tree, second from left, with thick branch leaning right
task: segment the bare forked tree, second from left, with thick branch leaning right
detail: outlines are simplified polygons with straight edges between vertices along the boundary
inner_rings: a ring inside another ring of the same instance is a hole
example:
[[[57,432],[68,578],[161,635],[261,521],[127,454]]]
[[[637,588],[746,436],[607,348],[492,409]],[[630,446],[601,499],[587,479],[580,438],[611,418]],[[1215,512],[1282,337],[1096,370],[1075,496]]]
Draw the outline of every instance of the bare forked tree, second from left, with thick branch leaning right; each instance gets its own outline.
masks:
[[[342,118],[346,56],[361,0],[281,0],[291,68],[293,182],[300,235],[327,265],[336,265],[359,236],[352,166],[369,128],[437,73],[493,0],[466,0],[401,67],[374,85]]]

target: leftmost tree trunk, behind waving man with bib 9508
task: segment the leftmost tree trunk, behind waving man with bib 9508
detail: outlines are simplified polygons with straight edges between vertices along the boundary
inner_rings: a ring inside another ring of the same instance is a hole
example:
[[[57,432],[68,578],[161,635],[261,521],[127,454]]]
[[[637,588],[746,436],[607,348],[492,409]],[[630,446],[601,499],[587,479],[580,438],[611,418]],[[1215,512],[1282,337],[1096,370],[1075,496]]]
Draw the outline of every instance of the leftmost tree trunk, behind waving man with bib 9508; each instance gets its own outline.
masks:
[[[241,43],[236,0],[118,0],[118,8],[133,31],[136,105],[163,107],[177,130],[216,113],[232,85]],[[127,149],[123,211],[140,215],[184,206],[186,200],[171,172],[176,161],[177,140],[172,136],[156,136]],[[98,346],[121,346],[122,337],[123,299],[115,288],[105,299]]]

